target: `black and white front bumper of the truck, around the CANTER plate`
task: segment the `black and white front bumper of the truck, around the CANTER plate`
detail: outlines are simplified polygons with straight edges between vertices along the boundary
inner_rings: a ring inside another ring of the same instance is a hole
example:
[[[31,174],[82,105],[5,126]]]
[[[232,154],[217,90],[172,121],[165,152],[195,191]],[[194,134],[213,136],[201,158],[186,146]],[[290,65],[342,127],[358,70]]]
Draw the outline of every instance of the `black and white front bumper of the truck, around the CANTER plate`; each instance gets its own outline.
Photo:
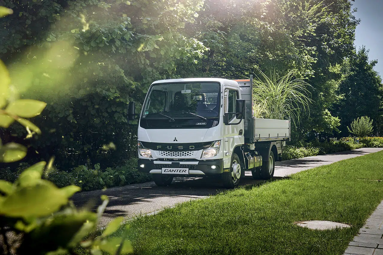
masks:
[[[141,167],[144,165],[144,167]],[[212,169],[211,166],[216,166]],[[163,167],[188,168],[189,175],[217,175],[223,173],[223,159],[200,160],[200,161],[161,161],[153,159],[138,159],[138,171],[142,173],[161,173]]]

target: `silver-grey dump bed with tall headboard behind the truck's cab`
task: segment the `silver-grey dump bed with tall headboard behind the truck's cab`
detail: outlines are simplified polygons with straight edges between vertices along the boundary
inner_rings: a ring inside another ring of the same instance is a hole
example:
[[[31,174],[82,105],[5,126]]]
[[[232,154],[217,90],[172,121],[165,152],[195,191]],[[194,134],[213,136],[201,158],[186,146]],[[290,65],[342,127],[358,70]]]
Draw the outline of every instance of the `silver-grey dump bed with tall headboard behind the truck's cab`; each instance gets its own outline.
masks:
[[[257,141],[290,140],[290,121],[280,119],[257,119],[253,117],[253,79],[236,80],[241,88],[241,98],[246,100],[244,137],[247,144]]]

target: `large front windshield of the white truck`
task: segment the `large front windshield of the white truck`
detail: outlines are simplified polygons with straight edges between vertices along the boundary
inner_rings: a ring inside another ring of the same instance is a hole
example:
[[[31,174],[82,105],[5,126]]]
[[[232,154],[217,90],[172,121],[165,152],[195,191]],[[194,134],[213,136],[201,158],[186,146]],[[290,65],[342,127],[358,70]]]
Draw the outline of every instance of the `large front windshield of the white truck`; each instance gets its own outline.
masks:
[[[219,83],[154,85],[149,91],[142,118],[200,118],[194,114],[202,119],[218,117]]]

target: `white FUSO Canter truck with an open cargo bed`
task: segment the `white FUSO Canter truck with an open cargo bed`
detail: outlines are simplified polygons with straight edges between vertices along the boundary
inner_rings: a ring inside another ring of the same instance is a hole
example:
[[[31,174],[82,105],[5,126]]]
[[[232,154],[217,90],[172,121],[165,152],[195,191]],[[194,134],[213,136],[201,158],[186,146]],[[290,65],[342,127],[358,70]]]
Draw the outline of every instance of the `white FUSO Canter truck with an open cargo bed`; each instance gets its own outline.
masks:
[[[290,121],[254,118],[252,84],[252,76],[153,82],[141,114],[134,102],[128,106],[129,121],[139,115],[138,170],[158,186],[174,177],[214,176],[234,188],[245,171],[273,177]]]

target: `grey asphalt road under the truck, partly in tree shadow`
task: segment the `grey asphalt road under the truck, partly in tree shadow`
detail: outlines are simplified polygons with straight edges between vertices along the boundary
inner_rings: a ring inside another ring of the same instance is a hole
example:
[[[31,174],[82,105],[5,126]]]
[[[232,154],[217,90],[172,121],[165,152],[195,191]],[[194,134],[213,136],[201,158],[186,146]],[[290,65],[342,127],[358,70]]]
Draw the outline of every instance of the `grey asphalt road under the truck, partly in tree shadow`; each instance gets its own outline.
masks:
[[[306,157],[302,159],[286,160],[275,163],[274,179],[284,178],[293,173],[298,173],[313,167],[329,165],[331,163],[358,157],[383,150],[381,148],[362,148],[347,152]],[[240,185],[256,186],[263,180],[254,180],[251,172],[246,172],[246,177]],[[105,191],[85,191],[73,196],[76,206],[94,208],[101,204],[101,195],[109,197],[108,206],[101,218],[100,227],[105,226],[111,219],[123,216],[129,219],[139,214],[155,213],[164,207],[174,206],[176,203],[190,199],[205,198],[224,191],[223,186],[207,178],[177,178],[173,179],[170,186],[157,187],[154,182],[139,183],[121,187],[109,188]]]

